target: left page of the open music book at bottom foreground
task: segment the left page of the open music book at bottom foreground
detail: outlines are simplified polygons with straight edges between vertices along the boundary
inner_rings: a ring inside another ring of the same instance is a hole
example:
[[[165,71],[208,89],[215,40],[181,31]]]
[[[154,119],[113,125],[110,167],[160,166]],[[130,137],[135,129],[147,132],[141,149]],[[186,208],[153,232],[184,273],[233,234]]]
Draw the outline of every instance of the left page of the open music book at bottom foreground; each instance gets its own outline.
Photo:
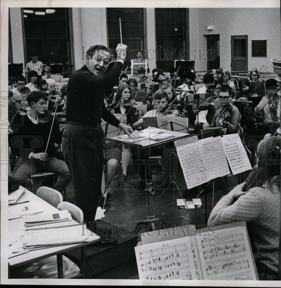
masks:
[[[196,280],[190,237],[135,247],[140,280]]]

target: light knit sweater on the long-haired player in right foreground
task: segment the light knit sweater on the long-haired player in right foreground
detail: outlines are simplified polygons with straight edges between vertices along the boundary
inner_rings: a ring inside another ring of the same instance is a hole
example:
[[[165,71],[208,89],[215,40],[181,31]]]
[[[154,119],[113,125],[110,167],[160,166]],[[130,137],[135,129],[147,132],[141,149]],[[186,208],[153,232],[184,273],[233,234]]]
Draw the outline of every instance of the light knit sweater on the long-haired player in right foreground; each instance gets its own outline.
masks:
[[[278,273],[278,241],[280,229],[280,191],[255,187],[236,202],[226,195],[213,208],[208,225],[238,221],[251,223],[256,262]]]

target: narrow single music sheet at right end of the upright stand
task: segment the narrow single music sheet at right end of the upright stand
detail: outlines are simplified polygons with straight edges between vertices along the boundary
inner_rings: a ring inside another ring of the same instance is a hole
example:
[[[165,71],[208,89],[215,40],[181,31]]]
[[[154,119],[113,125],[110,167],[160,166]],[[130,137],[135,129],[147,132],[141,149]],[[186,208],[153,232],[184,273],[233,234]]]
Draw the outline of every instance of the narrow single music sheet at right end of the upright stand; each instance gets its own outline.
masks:
[[[221,140],[233,175],[252,169],[238,134],[223,135]]]

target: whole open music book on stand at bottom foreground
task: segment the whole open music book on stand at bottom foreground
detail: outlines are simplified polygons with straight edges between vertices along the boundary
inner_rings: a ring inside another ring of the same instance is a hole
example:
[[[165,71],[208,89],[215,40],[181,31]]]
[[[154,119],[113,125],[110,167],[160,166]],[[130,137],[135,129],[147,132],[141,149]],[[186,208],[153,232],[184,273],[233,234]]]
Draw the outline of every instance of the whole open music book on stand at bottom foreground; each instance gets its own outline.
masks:
[[[142,234],[149,244],[135,247],[140,280],[258,280],[245,222],[205,228],[194,236],[186,227],[175,229],[182,232],[176,236],[167,230]]]

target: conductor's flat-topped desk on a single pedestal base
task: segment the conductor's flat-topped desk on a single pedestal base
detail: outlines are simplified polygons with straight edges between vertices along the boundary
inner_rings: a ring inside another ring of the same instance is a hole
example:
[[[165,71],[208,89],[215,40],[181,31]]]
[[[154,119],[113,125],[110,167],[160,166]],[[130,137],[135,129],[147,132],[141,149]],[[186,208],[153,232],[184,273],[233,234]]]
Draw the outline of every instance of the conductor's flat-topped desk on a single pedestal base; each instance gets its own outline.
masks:
[[[147,129],[151,129],[152,131],[155,130],[160,130],[158,128],[147,128]],[[146,130],[146,129],[145,129]],[[161,145],[163,143],[168,143],[168,142],[175,142],[175,141],[179,141],[179,145],[183,145],[182,142],[184,142],[184,139],[187,137],[191,137],[191,134],[186,134],[186,133],[181,133],[181,132],[175,132],[175,131],[168,131],[168,130],[163,130],[161,129],[161,131],[163,131],[164,133],[168,133],[171,134],[172,136],[167,138],[167,139],[163,139],[163,140],[151,140],[151,139],[143,139],[143,140],[139,140],[136,142],[130,142],[130,140],[128,139],[122,139],[121,137],[106,137],[106,145],[110,145],[110,141],[112,141],[114,143],[119,143],[124,145],[125,147],[136,147],[138,149],[145,149],[148,147],[153,147],[156,145]],[[175,145],[175,143],[174,143]],[[164,147],[163,147],[164,149]],[[166,155],[166,154],[164,154]],[[146,167],[146,165],[145,165]],[[147,169],[145,168],[145,174],[147,175]],[[148,177],[146,177],[146,179],[148,179]],[[174,181],[174,179],[173,179]],[[163,229],[166,226],[166,222],[163,219],[156,219],[155,214],[154,214],[154,206],[153,206],[153,194],[155,193],[155,188],[152,187],[152,181],[150,180],[149,182],[146,181],[146,189],[145,191],[147,192],[147,210],[148,210],[148,215],[147,215],[147,219],[145,221],[140,221],[137,223],[137,227],[138,227],[138,232],[144,228],[145,232],[151,231],[151,230],[155,230],[155,223],[157,223],[157,228],[158,229]],[[180,192],[180,191],[179,191]],[[180,192],[181,194],[181,192]],[[183,196],[181,195],[181,197],[183,198]],[[184,198],[183,198],[184,200]],[[157,230],[158,230],[157,229]]]

